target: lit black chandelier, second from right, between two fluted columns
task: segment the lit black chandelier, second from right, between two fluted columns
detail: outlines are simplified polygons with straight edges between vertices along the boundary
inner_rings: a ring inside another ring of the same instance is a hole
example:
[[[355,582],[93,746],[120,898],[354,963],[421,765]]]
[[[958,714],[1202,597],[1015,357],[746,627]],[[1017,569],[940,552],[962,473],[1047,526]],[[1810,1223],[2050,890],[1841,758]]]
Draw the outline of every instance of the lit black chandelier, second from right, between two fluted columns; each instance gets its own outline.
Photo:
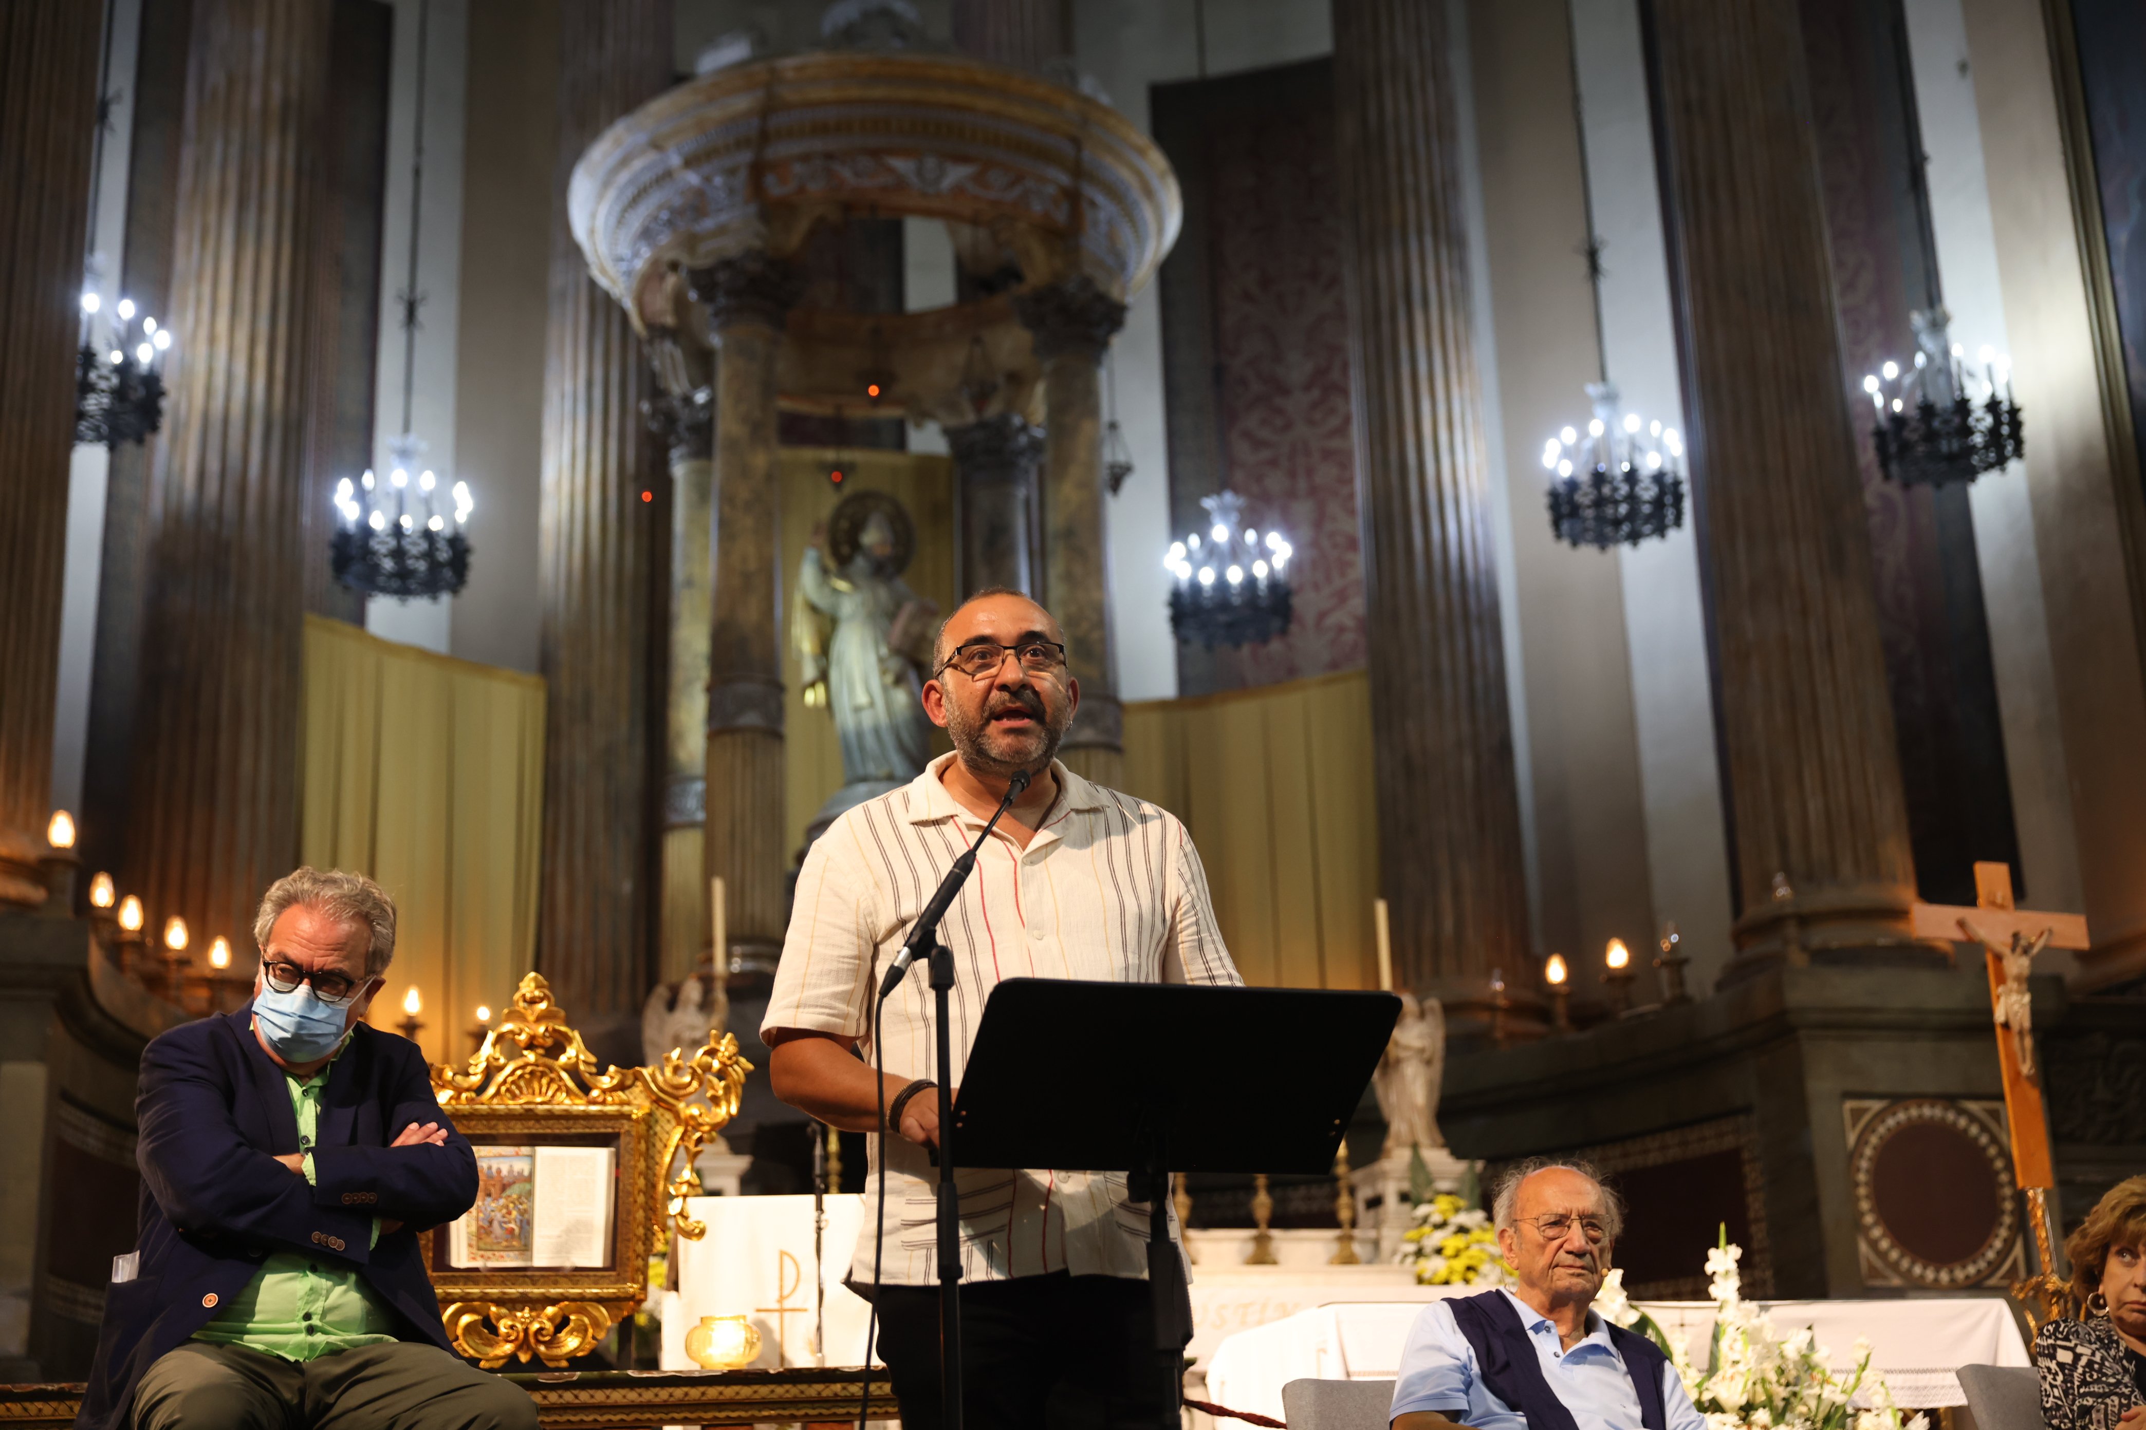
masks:
[[[1549,530],[1573,547],[1637,547],[1685,525],[1685,442],[1674,427],[1618,412],[1616,386],[1590,382],[1586,435],[1567,427],[1543,442]]]

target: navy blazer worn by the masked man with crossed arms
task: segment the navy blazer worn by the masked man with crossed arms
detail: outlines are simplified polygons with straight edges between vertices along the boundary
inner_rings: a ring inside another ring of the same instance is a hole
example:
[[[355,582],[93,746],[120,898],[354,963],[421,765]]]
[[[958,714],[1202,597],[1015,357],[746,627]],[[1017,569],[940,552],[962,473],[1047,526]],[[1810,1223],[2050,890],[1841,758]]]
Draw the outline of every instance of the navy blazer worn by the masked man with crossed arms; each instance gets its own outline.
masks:
[[[122,1430],[142,1372],[208,1325],[270,1252],[358,1267],[399,1312],[403,1340],[446,1349],[418,1233],[470,1209],[476,1156],[433,1100],[414,1042],[356,1027],[328,1068],[311,1186],[275,1162],[298,1151],[298,1117],[283,1070],[253,1036],[253,1003],[150,1042],[135,1115],[139,1267],[105,1293],[77,1430]],[[446,1143],[388,1147],[412,1121],[440,1123]],[[380,1246],[376,1216],[403,1224]]]

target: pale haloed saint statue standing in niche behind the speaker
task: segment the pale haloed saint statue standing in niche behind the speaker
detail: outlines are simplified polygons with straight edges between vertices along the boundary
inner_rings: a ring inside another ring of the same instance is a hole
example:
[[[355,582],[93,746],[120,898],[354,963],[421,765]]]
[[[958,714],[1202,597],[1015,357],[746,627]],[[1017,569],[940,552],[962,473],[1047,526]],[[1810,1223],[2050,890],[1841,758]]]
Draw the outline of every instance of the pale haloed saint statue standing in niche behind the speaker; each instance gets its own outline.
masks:
[[[901,579],[914,551],[916,523],[901,502],[854,491],[813,527],[798,566],[790,637],[805,671],[805,703],[835,716],[846,780],[815,825],[914,780],[931,757],[918,690],[931,667],[938,607]]]

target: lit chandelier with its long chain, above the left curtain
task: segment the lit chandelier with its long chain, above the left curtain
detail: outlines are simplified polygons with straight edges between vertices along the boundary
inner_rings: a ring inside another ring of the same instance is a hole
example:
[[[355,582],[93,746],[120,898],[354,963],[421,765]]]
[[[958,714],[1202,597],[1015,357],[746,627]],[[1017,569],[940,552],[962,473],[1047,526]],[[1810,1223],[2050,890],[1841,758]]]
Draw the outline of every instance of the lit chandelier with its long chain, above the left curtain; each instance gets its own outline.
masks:
[[[416,13],[416,116],[410,146],[410,283],[395,296],[401,304],[403,330],[403,420],[401,435],[388,442],[388,478],[371,470],[356,482],[348,476],[335,485],[335,515],[328,536],[328,566],[335,579],[367,596],[453,596],[470,579],[470,540],[464,525],[476,506],[468,482],[440,491],[440,478],[423,470],[425,444],[410,431],[410,403],[416,392],[416,313],[425,294],[416,285],[418,212],[425,193],[425,41],[431,0],[421,0]],[[453,495],[449,525],[446,495]]]

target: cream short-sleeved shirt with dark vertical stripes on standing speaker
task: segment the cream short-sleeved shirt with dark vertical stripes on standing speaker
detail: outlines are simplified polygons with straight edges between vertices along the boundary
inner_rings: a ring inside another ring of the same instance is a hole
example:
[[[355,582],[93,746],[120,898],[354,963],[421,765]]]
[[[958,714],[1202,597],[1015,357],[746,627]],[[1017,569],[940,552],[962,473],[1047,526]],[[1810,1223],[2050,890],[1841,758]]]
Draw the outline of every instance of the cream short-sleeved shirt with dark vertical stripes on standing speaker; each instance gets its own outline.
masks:
[[[813,840],[798,873],[790,935],[775,969],[762,1036],[811,1029],[854,1038],[867,1061],[871,997],[901,952],[940,877],[983,832],[940,772],[940,755],[910,785],[858,804]],[[994,832],[940,924],[953,950],[953,1057],[968,1061],[983,1003],[1002,978],[1243,984],[1223,948],[1206,873],[1174,815],[1052,763],[1058,802],[1021,849]],[[931,988],[910,971],[884,1012],[886,1072],[936,1076]],[[918,1096],[934,1096],[929,1091]],[[934,1205],[938,1171],[923,1147],[871,1138],[865,1207],[886,1177],[880,1280],[938,1284]],[[1004,1280],[1148,1273],[1148,1205],[1127,1196],[1122,1173],[961,1171],[961,1276]],[[1176,1216],[1172,1213],[1172,1235]],[[850,1278],[869,1284],[867,1211]]]

